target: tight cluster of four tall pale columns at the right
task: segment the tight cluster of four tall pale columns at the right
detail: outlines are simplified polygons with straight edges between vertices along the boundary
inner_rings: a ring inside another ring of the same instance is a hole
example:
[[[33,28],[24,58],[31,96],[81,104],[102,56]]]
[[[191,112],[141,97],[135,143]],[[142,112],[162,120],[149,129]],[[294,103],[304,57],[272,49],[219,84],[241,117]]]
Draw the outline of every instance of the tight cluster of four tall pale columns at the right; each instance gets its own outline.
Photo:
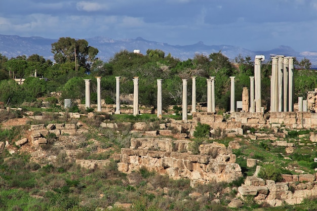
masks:
[[[271,112],[293,111],[294,57],[271,57]]]

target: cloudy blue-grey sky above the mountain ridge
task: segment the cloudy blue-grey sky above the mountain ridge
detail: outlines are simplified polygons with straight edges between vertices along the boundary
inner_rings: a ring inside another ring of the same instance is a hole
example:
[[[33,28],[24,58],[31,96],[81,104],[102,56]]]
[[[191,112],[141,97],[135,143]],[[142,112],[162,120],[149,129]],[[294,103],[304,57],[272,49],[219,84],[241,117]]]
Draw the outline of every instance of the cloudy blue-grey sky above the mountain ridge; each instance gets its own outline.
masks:
[[[0,0],[0,34],[317,51],[317,1]]]

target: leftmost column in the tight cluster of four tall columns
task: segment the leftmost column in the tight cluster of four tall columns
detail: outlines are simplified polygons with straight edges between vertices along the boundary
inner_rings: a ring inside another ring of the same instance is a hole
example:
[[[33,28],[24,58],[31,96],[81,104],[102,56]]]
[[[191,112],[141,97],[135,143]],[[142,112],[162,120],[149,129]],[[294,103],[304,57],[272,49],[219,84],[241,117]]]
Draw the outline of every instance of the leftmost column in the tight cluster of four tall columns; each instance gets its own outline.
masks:
[[[272,57],[272,80],[271,80],[271,112],[279,110],[279,69],[278,57]]]

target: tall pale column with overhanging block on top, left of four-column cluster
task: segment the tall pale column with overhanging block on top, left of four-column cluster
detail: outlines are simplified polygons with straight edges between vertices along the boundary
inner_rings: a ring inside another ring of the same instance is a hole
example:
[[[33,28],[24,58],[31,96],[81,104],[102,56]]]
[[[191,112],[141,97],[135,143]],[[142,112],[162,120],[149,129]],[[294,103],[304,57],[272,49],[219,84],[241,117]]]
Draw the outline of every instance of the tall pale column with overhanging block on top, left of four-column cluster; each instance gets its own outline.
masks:
[[[261,112],[262,106],[262,92],[261,92],[261,61],[264,60],[264,56],[256,55],[254,60],[254,82],[255,82],[255,112]]]

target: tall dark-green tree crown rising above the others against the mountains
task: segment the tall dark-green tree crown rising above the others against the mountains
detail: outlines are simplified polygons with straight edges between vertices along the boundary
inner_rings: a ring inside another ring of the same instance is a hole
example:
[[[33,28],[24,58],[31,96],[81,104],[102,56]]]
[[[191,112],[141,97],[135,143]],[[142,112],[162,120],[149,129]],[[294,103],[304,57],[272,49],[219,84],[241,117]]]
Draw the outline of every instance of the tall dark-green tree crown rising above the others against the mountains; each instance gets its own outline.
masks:
[[[62,64],[75,61],[79,66],[90,71],[91,65],[96,60],[98,49],[88,46],[85,39],[74,39],[70,37],[61,37],[56,43],[52,44],[52,53],[56,63]]]

